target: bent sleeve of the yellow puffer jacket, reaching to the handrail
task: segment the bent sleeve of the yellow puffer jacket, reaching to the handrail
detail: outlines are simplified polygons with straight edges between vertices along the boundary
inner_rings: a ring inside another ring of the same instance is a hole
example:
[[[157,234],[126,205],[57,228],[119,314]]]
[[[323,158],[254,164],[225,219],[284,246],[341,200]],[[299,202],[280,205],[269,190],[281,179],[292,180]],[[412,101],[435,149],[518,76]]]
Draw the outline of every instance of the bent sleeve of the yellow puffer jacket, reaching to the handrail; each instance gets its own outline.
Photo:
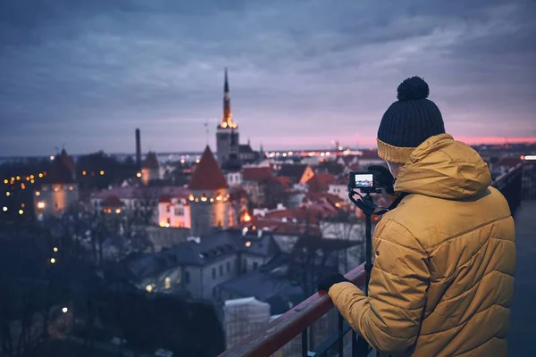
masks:
[[[343,317],[375,349],[401,353],[419,333],[430,272],[427,254],[406,228],[381,220],[374,232],[375,256],[369,296],[355,285],[331,286]]]

